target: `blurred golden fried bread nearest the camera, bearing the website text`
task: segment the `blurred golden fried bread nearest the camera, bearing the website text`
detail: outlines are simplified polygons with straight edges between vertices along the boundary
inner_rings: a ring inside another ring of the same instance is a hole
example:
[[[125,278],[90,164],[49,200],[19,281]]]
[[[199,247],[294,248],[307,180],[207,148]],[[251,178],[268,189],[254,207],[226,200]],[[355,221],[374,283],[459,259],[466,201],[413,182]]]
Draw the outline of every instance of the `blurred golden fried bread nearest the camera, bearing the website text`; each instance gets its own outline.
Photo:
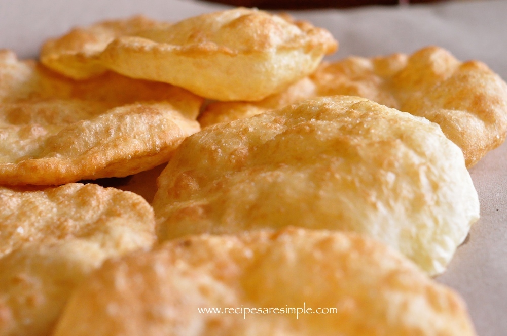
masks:
[[[332,314],[198,309],[336,308]],[[239,311],[241,312],[241,311]],[[288,228],[192,236],[106,262],[55,336],[474,335],[451,289],[373,239]]]

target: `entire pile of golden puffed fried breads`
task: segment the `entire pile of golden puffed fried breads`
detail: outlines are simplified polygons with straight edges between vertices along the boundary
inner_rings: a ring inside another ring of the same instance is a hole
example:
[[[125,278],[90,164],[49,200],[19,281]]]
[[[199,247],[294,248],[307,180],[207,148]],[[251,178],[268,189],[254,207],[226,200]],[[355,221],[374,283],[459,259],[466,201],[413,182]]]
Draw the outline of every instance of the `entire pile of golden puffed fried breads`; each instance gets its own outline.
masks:
[[[479,219],[507,84],[337,48],[236,8],[0,51],[0,336],[475,335],[431,276]],[[161,164],[153,201],[99,185]]]

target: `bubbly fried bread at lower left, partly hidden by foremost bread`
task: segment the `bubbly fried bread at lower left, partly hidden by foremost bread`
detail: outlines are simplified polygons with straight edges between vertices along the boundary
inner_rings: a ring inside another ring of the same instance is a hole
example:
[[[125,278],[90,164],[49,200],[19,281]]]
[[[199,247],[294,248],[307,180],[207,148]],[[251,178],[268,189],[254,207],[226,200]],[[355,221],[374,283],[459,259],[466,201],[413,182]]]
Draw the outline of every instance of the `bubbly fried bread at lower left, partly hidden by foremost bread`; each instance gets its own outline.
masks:
[[[0,187],[0,335],[50,334],[70,293],[107,258],[155,242],[141,197],[95,184]]]

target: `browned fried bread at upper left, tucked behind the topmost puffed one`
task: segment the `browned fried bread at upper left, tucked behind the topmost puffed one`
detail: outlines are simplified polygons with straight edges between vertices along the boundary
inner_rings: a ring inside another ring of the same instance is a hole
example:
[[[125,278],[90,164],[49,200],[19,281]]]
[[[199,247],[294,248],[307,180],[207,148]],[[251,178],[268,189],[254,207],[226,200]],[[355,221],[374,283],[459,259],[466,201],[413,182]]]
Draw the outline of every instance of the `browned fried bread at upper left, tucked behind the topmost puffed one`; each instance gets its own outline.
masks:
[[[168,25],[138,15],[120,20],[107,20],[88,27],[77,27],[67,34],[48,39],[41,50],[41,62],[65,76],[86,79],[107,69],[98,62],[98,55],[116,37]]]

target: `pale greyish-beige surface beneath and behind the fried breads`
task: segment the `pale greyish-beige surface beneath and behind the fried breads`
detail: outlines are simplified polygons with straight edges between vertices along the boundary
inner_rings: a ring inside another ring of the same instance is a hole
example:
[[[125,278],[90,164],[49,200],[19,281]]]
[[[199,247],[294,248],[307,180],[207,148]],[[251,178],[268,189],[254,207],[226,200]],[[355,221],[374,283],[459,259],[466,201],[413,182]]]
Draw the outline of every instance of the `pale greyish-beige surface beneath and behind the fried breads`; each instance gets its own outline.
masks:
[[[0,0],[0,48],[13,49],[22,58],[37,57],[44,39],[75,25],[137,13],[176,21],[222,8],[227,7],[193,0]],[[412,53],[438,45],[461,60],[481,60],[507,79],[507,1],[291,14],[334,34],[340,50],[332,59]],[[158,172],[160,169],[120,183],[150,198]],[[503,336],[507,334],[507,144],[490,152],[470,173],[481,199],[482,218],[458,249],[449,270],[437,280],[461,293],[479,335]]]

